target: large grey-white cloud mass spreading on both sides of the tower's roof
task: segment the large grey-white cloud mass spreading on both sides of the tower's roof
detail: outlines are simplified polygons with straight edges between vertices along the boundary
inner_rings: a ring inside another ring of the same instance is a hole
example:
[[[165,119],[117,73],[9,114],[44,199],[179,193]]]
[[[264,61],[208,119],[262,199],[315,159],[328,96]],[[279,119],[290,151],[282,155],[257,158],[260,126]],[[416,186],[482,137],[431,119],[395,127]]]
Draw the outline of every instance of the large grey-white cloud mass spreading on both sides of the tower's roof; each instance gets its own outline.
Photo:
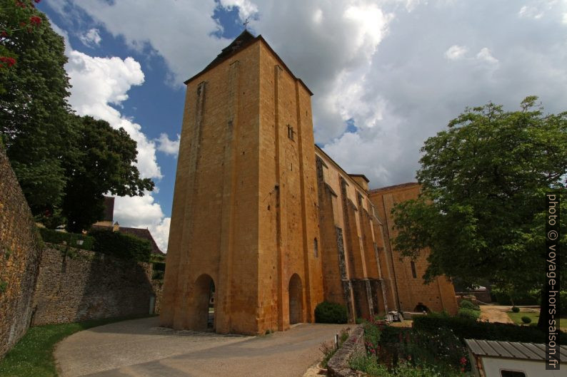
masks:
[[[371,187],[414,180],[423,141],[466,106],[493,100],[513,110],[539,95],[546,111],[565,110],[565,1],[219,1],[46,4],[81,9],[128,46],[163,56],[177,83],[231,42],[218,37],[215,10],[254,17],[249,29],[314,93],[317,143]]]

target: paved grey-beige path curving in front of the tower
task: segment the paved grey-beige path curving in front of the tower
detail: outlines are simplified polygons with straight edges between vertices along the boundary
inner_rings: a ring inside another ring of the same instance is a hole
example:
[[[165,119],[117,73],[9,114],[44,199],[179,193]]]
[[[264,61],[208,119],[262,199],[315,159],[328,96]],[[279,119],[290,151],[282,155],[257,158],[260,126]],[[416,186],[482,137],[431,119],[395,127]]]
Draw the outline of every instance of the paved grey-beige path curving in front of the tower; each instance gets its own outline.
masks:
[[[58,344],[61,377],[299,377],[321,342],[348,325],[300,324],[267,336],[224,336],[158,327],[151,317],[80,331]]]

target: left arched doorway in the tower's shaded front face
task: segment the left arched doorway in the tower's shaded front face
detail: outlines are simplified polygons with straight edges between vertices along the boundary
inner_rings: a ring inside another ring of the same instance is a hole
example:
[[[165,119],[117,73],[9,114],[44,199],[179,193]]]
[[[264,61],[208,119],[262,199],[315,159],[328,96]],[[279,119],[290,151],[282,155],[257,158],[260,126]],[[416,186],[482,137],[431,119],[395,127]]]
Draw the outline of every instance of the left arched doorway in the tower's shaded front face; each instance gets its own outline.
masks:
[[[195,329],[201,331],[214,331],[215,284],[208,274],[202,274],[195,281],[194,290],[194,323]]]

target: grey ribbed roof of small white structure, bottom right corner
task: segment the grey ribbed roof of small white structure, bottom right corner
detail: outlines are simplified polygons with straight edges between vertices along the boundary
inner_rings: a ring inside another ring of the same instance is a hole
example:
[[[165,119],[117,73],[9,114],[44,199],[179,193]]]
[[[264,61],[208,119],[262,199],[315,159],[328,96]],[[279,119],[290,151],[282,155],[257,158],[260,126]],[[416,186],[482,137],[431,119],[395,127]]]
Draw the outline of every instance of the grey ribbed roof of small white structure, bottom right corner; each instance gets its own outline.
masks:
[[[479,341],[476,339],[465,339],[465,343],[474,356],[546,361],[545,344],[516,341]],[[560,346],[559,354],[561,355],[561,362],[567,361],[567,346]]]

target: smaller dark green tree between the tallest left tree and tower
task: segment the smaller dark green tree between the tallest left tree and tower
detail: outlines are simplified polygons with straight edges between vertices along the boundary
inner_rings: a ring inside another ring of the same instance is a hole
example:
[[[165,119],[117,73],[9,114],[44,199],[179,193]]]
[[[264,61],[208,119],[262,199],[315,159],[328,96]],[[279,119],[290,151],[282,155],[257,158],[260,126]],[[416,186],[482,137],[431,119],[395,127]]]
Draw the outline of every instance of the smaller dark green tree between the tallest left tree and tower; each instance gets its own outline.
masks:
[[[68,179],[61,212],[67,229],[81,232],[101,219],[104,194],[134,196],[153,190],[154,182],[141,179],[136,162],[136,142],[124,128],[115,130],[104,120],[89,116],[74,119],[76,145],[64,160]]]

